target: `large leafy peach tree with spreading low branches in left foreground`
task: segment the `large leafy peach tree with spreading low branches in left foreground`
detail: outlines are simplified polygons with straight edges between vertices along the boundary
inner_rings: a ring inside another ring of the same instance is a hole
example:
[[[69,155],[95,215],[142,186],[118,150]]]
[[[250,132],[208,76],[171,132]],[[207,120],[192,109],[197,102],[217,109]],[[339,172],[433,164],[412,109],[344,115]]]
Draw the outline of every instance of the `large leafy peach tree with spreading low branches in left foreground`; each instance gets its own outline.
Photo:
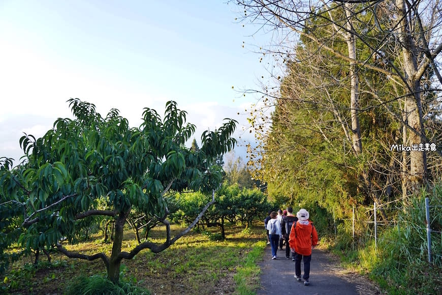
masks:
[[[167,249],[213,204],[213,192],[222,182],[222,168],[215,165],[215,159],[236,144],[231,136],[237,122],[226,119],[216,131],[203,132],[201,148],[192,151],[185,143],[195,133],[195,125],[186,124],[186,112],[173,101],[167,102],[163,119],[145,108],[139,128],[130,128],[117,109],[102,117],[91,103],[68,102],[75,119],[56,120],[38,139],[23,136],[24,161],[14,168],[6,158],[2,162],[2,237],[16,236],[14,230],[19,227],[24,247],[53,247],[71,258],[101,259],[108,278],[118,283],[123,259],[132,259],[143,249],[154,253]],[[164,197],[170,190],[212,192],[194,222],[174,237]],[[145,241],[129,252],[122,251],[123,226],[133,210],[164,224],[166,241]],[[64,240],[75,243],[80,221],[90,216],[113,218],[110,256],[72,252],[62,245]]]

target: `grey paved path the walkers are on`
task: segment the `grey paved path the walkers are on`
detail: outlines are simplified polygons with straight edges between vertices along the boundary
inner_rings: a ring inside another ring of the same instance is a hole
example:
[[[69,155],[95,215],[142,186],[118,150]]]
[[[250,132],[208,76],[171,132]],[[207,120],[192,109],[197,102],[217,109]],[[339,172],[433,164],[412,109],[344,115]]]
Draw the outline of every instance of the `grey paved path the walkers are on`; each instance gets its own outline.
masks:
[[[284,246],[285,247],[285,246]],[[285,248],[278,250],[278,258],[271,259],[270,245],[264,254],[261,267],[261,287],[258,294],[380,294],[380,290],[366,278],[345,272],[337,258],[314,249],[310,263],[310,285],[304,286],[295,278],[295,262],[286,259]],[[301,261],[301,275],[304,265]]]

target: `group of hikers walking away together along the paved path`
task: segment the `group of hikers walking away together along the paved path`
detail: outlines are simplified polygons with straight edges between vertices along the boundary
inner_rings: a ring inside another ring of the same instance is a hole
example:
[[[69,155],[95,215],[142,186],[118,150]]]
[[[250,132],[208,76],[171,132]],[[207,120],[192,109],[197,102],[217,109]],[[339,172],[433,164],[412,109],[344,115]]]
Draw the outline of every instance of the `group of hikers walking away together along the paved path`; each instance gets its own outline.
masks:
[[[270,211],[264,219],[267,231],[267,244],[272,248],[272,259],[277,259],[276,251],[282,250],[286,244],[286,258],[295,261],[295,278],[304,285],[309,284],[311,250],[318,244],[318,232],[313,223],[308,220],[309,213],[305,209],[293,215],[292,207],[287,210]],[[301,260],[304,262],[304,275],[301,278]]]

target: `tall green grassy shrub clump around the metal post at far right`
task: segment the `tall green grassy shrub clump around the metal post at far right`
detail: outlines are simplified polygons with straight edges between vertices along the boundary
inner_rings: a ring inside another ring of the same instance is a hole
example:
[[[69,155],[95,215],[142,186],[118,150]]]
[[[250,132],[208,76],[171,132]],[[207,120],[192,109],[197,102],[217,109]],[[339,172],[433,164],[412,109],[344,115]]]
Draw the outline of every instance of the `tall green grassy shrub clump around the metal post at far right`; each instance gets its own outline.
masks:
[[[435,294],[442,291],[442,190],[436,186],[430,199],[432,263],[428,262],[424,198],[411,197],[397,215],[399,226],[389,227],[378,235],[377,253],[373,241],[359,251],[360,267],[370,273],[392,294]]]

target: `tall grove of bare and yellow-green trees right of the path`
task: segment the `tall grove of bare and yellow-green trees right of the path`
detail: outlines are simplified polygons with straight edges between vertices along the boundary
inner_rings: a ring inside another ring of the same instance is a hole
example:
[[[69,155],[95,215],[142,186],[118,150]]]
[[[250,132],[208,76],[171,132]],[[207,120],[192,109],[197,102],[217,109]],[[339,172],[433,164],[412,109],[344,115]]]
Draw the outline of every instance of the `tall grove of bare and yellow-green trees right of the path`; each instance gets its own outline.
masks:
[[[269,69],[278,87],[258,91],[250,118],[261,145],[249,165],[272,198],[345,216],[356,203],[406,205],[440,180],[438,1],[237,4],[273,32],[262,53],[285,71]]]

